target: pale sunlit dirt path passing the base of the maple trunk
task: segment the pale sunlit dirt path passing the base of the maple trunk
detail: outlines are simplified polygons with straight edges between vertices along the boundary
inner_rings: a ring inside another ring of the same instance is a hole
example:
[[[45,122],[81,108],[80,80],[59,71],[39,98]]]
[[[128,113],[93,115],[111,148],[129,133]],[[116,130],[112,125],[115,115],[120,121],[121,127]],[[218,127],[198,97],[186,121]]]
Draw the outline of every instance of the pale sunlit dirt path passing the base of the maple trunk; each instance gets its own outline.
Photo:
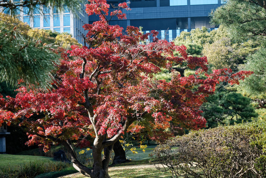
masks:
[[[156,166],[160,166],[160,164],[156,164]],[[109,167],[109,171],[112,170],[123,170],[123,169],[144,169],[144,168],[155,168],[153,164],[144,164],[144,165],[131,165],[131,166],[118,166],[118,167]],[[81,173],[69,174],[66,176],[61,176],[58,178],[84,178],[85,176]]]

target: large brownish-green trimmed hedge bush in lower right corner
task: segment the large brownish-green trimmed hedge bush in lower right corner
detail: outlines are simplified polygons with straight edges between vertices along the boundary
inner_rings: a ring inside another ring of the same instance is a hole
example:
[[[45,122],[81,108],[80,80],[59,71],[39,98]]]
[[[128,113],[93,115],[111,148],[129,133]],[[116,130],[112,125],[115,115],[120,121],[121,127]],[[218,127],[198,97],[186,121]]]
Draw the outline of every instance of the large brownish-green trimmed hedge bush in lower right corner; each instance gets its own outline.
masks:
[[[178,177],[265,177],[266,122],[192,131],[158,145],[152,160]]]

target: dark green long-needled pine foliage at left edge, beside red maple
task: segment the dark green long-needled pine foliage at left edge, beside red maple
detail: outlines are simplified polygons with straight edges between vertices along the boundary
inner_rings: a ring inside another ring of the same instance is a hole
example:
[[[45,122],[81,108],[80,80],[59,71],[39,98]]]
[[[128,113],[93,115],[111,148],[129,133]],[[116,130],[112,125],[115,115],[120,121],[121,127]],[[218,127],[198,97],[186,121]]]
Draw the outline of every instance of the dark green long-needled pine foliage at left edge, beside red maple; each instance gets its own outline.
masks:
[[[15,29],[0,26],[0,80],[17,86],[23,79],[25,86],[35,84],[42,88],[52,82],[52,71],[58,64],[58,55],[43,46],[39,40],[24,37]]]

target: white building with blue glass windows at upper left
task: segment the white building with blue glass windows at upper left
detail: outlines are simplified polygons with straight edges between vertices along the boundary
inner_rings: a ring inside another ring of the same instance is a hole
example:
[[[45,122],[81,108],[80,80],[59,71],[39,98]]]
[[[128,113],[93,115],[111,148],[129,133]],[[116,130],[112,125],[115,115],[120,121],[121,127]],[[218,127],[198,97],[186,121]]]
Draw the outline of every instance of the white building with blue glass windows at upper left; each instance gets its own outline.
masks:
[[[72,34],[72,37],[78,40],[79,43],[84,44],[83,34],[86,35],[84,24],[88,23],[88,14],[85,11],[85,4],[87,0],[84,0],[84,4],[81,6],[82,9],[78,15],[73,15],[67,8],[59,13],[56,9],[40,7],[40,11],[34,11],[33,16],[28,15],[28,8],[24,7],[18,12],[19,19],[32,28],[38,29],[51,29],[59,33],[68,32]],[[9,11],[2,10],[4,13]],[[41,13],[43,12],[43,13]]]

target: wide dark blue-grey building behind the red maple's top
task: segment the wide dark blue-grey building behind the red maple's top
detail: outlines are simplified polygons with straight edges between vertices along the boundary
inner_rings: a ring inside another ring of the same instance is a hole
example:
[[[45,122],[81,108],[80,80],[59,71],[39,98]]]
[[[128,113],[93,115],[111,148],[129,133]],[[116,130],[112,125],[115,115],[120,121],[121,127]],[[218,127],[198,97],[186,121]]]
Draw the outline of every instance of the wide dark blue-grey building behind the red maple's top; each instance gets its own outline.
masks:
[[[124,0],[107,0],[110,10],[118,7]],[[216,28],[209,21],[209,13],[223,4],[223,0],[131,0],[127,20],[112,19],[110,24],[118,24],[124,29],[128,25],[142,26],[144,33],[150,30],[159,32],[158,38],[172,41],[182,31],[201,28]],[[97,16],[90,16],[89,23],[97,20]]]

